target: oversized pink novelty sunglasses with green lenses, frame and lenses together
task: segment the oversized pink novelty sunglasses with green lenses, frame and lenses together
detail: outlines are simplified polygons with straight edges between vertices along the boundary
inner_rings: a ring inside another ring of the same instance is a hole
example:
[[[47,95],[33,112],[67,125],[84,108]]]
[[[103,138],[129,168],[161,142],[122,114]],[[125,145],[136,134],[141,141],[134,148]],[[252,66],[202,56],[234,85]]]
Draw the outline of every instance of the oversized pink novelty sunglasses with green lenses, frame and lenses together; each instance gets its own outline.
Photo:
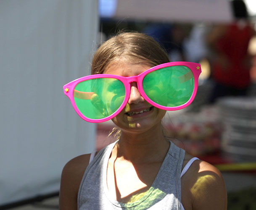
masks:
[[[187,107],[195,98],[199,63],[170,62],[154,66],[137,76],[93,74],[63,86],[77,114],[85,121],[108,121],[121,112],[129,100],[131,82],[137,83],[140,95],[163,110]]]

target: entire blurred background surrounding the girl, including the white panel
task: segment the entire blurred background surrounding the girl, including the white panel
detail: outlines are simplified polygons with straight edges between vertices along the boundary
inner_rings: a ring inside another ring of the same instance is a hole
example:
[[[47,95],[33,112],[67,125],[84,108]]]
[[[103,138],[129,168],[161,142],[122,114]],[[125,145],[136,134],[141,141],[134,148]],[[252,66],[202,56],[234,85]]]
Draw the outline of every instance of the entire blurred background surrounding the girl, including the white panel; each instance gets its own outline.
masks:
[[[112,121],[80,119],[62,87],[120,31],[201,63],[195,100],[166,114],[166,136],[219,168],[228,209],[256,209],[255,0],[1,0],[0,29],[0,209],[58,209],[65,163],[115,140]]]

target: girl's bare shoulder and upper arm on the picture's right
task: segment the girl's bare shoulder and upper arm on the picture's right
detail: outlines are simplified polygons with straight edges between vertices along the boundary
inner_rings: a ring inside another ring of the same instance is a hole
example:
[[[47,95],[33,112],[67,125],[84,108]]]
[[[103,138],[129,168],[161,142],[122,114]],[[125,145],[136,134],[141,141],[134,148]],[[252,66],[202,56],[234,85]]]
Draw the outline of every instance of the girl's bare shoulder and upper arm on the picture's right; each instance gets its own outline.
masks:
[[[185,155],[183,167],[192,157]],[[222,174],[203,160],[195,160],[182,176],[182,191],[187,198],[182,201],[182,204],[187,204],[187,207],[184,205],[185,209],[227,209],[227,192]]]

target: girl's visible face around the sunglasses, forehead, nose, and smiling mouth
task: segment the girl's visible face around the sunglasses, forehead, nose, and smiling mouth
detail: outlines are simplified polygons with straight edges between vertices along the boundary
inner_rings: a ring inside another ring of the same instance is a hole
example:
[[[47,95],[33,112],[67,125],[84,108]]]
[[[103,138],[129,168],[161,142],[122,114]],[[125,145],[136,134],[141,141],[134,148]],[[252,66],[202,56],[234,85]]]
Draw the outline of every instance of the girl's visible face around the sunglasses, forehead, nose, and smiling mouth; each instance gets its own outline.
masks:
[[[114,63],[110,65],[104,74],[118,76],[136,76],[151,68],[150,65]],[[128,132],[143,132],[154,126],[161,126],[161,119],[166,111],[150,105],[140,95],[137,83],[131,83],[131,93],[125,108],[112,119],[120,129]]]

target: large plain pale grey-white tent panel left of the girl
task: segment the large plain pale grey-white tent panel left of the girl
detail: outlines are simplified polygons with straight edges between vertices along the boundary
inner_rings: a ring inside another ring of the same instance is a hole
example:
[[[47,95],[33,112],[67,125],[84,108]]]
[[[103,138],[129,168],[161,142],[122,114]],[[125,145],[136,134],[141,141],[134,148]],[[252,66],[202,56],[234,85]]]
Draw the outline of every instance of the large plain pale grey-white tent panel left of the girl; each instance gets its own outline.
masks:
[[[0,205],[58,191],[94,149],[62,87],[89,74],[97,30],[95,0],[0,1]]]

